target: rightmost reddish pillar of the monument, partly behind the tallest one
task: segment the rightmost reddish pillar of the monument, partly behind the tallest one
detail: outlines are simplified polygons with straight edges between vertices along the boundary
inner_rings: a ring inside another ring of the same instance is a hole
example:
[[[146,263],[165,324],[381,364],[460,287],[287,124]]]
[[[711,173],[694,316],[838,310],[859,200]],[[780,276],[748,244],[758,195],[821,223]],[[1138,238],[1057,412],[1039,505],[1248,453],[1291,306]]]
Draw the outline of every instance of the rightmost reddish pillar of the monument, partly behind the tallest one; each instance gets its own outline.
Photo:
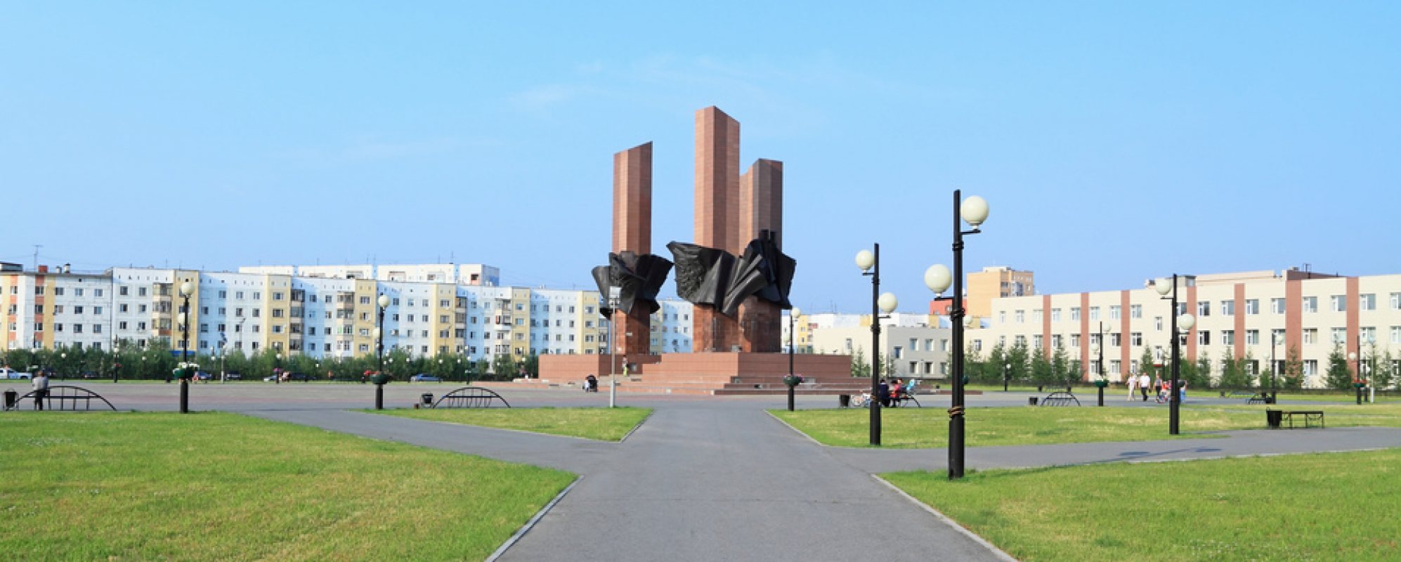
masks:
[[[740,178],[740,244],[772,235],[783,249],[783,163],[758,160]],[[741,248],[743,251],[743,248]],[[740,306],[740,346],[745,352],[783,349],[783,310],[776,303],[750,297]]]

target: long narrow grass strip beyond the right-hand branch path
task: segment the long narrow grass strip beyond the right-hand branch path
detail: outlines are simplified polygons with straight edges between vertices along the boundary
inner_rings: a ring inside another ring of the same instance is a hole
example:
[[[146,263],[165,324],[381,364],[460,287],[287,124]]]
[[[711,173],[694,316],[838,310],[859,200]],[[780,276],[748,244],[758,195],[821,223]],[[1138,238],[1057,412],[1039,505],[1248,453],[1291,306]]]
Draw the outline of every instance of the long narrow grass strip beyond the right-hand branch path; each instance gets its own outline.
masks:
[[[1274,408],[1274,406],[1272,406]],[[1289,409],[1288,404],[1279,408]],[[1309,405],[1325,412],[1330,427],[1401,427],[1401,404]],[[1201,432],[1264,429],[1264,405],[1194,406],[1181,409],[1181,437]],[[870,412],[860,409],[772,411],[775,416],[818,443],[867,447]],[[1161,408],[968,408],[969,447],[1174,439],[1167,434],[1167,405]],[[947,447],[948,415],[943,408],[881,409],[881,444],[895,448]]]

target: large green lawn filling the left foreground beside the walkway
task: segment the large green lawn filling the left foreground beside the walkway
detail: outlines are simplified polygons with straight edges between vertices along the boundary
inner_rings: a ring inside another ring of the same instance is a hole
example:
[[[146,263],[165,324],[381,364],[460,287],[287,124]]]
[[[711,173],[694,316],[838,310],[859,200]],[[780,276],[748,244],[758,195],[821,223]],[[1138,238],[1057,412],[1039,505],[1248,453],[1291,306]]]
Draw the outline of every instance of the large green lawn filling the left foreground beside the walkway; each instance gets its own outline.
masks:
[[[6,559],[483,559],[562,471],[233,413],[0,416]]]

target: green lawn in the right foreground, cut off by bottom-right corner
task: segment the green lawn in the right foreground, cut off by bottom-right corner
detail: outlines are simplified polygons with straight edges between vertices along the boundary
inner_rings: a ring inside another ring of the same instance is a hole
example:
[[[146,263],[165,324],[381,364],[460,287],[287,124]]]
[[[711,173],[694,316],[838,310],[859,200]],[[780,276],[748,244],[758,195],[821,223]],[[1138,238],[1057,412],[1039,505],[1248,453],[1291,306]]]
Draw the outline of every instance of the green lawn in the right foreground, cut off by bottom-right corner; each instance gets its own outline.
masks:
[[[1023,561],[1401,559],[1401,450],[883,475]]]

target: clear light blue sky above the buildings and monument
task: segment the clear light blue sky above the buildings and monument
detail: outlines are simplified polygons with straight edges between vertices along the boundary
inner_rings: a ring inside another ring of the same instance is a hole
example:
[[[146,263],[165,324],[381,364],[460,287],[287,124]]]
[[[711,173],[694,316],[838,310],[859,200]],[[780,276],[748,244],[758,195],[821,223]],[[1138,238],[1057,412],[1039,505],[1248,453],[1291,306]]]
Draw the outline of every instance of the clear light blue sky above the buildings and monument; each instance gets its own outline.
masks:
[[[717,105],[785,163],[810,311],[870,310],[871,242],[925,310],[954,188],[965,266],[1041,293],[1401,273],[1401,3],[824,4],[0,0],[0,259],[588,287],[612,154],[656,143],[665,256]]]

